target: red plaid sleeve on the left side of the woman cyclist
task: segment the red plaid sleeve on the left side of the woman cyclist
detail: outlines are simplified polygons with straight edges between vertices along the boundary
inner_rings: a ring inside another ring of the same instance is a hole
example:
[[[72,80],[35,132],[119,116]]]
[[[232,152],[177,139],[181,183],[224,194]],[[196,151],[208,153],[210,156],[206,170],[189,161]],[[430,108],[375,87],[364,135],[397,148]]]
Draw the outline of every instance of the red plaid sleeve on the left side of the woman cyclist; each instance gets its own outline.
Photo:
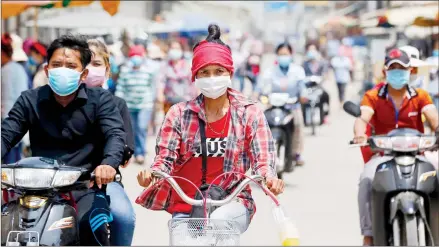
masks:
[[[173,105],[165,116],[157,136],[156,156],[151,165],[152,170],[160,170],[171,174],[174,163],[179,158],[181,142],[179,105]]]

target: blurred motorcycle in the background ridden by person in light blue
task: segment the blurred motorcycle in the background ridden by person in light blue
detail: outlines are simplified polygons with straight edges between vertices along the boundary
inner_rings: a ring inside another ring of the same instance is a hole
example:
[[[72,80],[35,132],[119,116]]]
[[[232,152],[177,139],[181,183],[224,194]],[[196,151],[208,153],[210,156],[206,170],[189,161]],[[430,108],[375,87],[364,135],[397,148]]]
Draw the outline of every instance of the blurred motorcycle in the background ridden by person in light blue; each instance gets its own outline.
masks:
[[[276,157],[278,159],[277,175],[279,178],[282,178],[284,172],[292,172],[294,170],[291,153],[294,115],[291,111],[291,106],[298,102],[298,98],[291,98],[288,93],[271,93],[268,97],[261,96],[260,101],[268,105],[264,114],[275,143]]]

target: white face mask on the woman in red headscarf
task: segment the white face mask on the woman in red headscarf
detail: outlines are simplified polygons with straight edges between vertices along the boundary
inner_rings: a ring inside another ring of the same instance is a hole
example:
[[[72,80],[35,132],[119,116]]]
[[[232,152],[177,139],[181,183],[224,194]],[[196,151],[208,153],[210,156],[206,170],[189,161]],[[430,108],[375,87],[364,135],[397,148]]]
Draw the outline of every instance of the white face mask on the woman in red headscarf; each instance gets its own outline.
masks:
[[[210,99],[217,99],[225,94],[228,87],[232,86],[230,76],[217,76],[195,79],[195,86],[201,93]]]

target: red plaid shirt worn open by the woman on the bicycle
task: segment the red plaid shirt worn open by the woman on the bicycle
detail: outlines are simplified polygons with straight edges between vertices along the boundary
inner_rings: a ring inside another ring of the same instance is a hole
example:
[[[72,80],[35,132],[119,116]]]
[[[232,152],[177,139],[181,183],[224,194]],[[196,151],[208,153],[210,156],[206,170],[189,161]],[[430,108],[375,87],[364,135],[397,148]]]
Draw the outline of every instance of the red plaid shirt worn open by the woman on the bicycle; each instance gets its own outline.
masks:
[[[228,95],[232,122],[224,157],[224,172],[246,173],[251,167],[253,173],[276,177],[274,142],[263,112],[233,89],[228,90]],[[198,118],[206,121],[203,95],[171,107],[157,137],[152,170],[172,175],[192,158],[201,144]],[[220,184],[226,190],[232,189],[243,179],[241,175],[230,174],[223,176]],[[166,210],[172,191],[172,187],[162,180],[144,190],[136,203],[151,210]],[[252,218],[256,205],[249,186],[239,194],[238,200],[247,207]]]

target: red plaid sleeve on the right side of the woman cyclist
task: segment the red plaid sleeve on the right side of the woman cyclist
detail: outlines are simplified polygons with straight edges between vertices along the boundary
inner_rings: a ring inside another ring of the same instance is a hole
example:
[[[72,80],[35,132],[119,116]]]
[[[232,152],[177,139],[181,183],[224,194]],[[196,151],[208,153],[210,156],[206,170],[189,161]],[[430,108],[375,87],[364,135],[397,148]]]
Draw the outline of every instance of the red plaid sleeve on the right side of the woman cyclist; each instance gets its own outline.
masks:
[[[277,177],[274,141],[263,112],[257,105],[247,108],[251,125],[249,149],[253,172],[264,177]]]

